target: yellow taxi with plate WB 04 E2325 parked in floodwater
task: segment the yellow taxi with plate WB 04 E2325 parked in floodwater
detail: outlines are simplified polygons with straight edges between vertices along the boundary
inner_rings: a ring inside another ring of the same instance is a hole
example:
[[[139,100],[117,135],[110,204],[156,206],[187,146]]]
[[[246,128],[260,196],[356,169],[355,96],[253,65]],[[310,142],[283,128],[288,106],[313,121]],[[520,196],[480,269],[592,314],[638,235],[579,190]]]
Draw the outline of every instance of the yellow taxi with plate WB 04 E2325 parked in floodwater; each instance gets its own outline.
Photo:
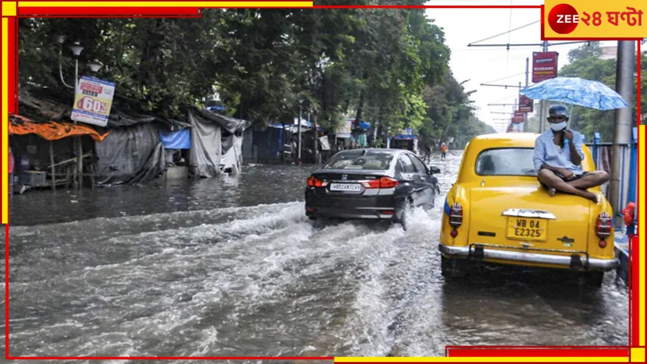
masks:
[[[532,165],[530,133],[490,134],[468,144],[444,203],[439,249],[445,277],[472,262],[571,269],[599,287],[617,266],[611,205],[559,193],[550,197]],[[584,146],[584,171],[595,170]],[[600,187],[589,188],[600,194]]]

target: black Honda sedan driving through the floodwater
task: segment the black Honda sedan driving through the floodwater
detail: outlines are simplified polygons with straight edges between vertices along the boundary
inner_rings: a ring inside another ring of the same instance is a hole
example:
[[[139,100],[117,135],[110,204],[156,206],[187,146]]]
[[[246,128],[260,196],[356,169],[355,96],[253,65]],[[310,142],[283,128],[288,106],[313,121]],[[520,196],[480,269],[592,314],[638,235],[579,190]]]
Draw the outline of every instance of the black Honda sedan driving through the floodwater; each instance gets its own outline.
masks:
[[[305,214],[313,220],[390,219],[406,228],[405,212],[433,207],[437,172],[408,150],[345,150],[307,179]]]

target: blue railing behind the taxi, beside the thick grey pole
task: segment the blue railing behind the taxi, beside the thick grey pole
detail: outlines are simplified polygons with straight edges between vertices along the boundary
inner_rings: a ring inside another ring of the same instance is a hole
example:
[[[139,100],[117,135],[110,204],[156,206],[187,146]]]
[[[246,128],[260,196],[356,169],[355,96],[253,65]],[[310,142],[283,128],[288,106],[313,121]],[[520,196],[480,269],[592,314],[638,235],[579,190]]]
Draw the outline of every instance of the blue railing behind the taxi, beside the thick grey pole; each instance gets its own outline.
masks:
[[[613,143],[600,142],[600,133],[595,133],[593,142],[585,143],[591,149],[593,161],[598,170],[611,174],[611,149]],[[636,203],[638,176],[638,128],[633,128],[631,142],[619,143],[620,146],[620,194],[617,206],[623,209],[630,201]],[[622,211],[615,211],[616,216],[622,216]]]

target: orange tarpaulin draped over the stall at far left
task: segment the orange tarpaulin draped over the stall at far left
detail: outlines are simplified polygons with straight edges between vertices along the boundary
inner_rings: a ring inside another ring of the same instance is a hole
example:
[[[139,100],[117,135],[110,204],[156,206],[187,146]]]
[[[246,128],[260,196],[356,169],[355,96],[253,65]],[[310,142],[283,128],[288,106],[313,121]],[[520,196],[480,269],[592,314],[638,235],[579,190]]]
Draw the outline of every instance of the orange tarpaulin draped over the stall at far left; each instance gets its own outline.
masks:
[[[32,122],[32,120],[20,115],[10,115],[9,133],[16,135],[34,133],[48,141],[56,141],[74,135],[90,135],[95,141],[102,141],[109,132],[101,135],[89,126],[74,125],[70,122]]]

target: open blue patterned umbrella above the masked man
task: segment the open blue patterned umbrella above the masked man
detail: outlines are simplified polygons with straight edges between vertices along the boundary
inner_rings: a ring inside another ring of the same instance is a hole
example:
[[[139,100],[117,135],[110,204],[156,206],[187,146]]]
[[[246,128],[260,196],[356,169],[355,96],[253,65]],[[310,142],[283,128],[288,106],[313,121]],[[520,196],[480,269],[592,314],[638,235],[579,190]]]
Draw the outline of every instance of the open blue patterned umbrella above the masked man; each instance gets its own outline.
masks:
[[[579,77],[555,77],[521,89],[534,100],[549,100],[611,110],[629,106],[617,92],[602,82]]]

